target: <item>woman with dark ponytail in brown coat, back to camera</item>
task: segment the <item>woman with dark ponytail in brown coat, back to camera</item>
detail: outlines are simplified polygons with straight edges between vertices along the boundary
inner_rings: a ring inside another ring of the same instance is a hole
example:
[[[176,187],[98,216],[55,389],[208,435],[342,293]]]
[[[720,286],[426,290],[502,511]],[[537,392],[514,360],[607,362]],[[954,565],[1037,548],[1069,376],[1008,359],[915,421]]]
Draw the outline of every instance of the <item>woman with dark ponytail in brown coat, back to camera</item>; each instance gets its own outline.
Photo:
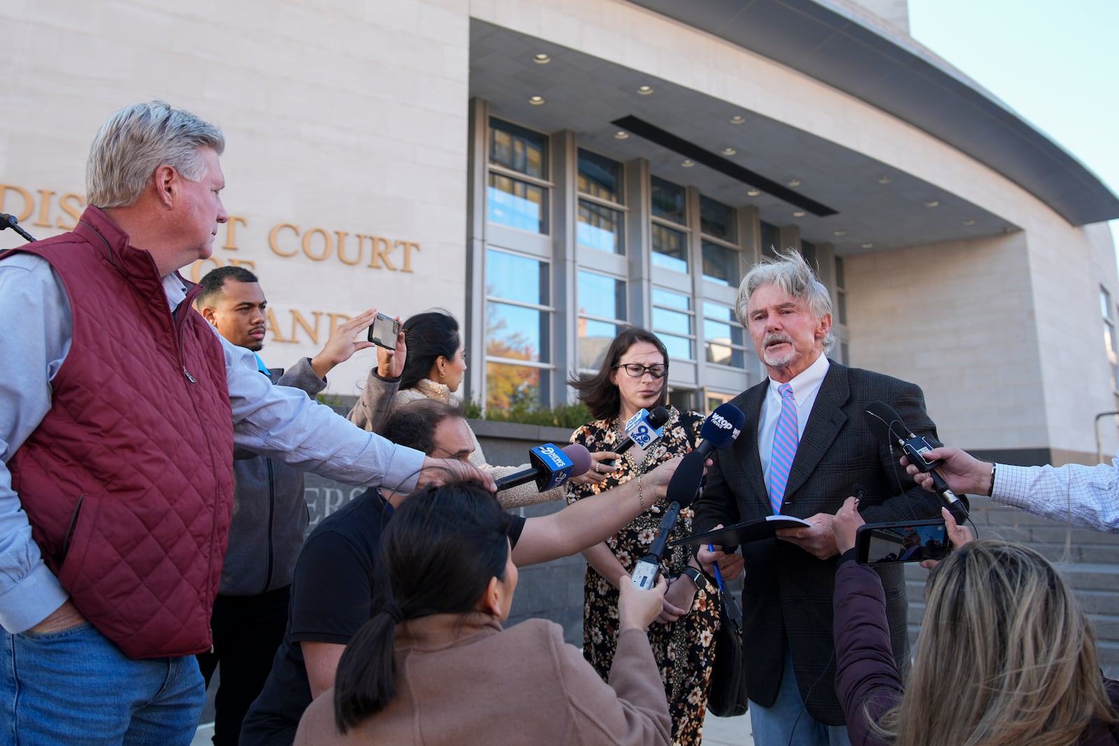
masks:
[[[621,594],[608,686],[563,629],[502,629],[517,585],[508,514],[477,484],[413,494],[382,537],[388,601],[338,663],[295,744],[668,744],[671,721],[645,629],[664,582]]]

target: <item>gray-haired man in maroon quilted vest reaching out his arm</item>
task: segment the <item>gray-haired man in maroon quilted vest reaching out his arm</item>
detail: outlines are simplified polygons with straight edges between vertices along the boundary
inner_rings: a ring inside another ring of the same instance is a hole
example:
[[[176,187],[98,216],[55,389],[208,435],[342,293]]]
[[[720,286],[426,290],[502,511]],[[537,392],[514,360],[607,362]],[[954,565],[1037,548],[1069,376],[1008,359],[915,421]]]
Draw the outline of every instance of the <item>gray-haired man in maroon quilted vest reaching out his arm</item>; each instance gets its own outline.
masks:
[[[234,444],[351,484],[485,479],[272,386],[191,309],[177,270],[228,219],[224,147],[125,107],[77,227],[0,255],[2,743],[190,743]]]

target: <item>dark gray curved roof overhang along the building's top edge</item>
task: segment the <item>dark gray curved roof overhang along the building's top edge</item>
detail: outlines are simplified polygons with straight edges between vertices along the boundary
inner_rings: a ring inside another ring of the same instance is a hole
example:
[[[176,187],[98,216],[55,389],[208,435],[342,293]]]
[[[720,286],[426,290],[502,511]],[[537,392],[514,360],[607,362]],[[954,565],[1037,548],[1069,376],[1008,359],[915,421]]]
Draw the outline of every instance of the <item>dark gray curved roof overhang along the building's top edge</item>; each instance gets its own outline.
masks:
[[[630,0],[827,83],[985,163],[1074,226],[1119,218],[1083,163],[904,34],[829,0]]]

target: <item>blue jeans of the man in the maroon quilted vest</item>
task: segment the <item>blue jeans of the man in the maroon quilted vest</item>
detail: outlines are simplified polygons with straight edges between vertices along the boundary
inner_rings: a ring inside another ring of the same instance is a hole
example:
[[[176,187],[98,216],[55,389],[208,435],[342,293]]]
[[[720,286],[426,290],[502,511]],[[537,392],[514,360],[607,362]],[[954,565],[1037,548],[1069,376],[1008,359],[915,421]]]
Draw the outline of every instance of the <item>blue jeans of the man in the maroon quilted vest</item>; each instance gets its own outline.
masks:
[[[6,746],[189,746],[205,698],[194,655],[132,661],[92,624],[0,630]]]

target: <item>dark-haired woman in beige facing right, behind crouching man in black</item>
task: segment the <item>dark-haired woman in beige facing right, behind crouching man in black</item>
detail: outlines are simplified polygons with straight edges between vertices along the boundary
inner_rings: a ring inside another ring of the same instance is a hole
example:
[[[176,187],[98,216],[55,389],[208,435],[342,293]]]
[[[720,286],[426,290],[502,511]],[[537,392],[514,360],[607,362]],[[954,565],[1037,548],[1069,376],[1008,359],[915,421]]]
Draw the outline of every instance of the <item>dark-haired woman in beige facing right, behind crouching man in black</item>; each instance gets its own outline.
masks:
[[[410,318],[401,327],[401,339],[395,350],[377,348],[379,363],[369,371],[366,391],[350,410],[350,422],[367,431],[379,433],[385,422],[397,409],[419,399],[435,399],[459,407],[462,399],[455,396],[467,372],[467,352],[459,334],[459,322],[445,311],[426,311]],[[403,362],[402,362],[403,360]],[[399,375],[399,384],[387,378],[393,371]],[[398,390],[397,390],[398,388]],[[385,403],[386,397],[392,399]],[[486,461],[482,446],[473,429],[470,431],[474,448],[462,454],[470,463],[491,473],[495,479],[528,469],[519,466],[493,466]],[[453,454],[452,454],[453,456]],[[548,500],[563,500],[563,488],[538,492],[536,484],[520,484],[498,493],[501,506],[519,508]]]

